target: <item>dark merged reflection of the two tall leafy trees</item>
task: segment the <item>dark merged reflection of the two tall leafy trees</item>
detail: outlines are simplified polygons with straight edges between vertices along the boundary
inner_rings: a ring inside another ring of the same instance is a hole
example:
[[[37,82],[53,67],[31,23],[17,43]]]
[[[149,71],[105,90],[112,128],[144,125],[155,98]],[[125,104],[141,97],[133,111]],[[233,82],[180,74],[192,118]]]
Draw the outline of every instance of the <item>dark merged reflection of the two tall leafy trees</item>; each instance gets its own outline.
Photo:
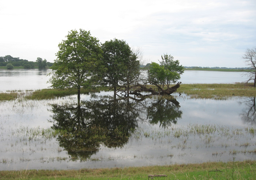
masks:
[[[80,107],[52,105],[53,126],[57,140],[73,160],[86,160],[98,152],[101,144],[123,147],[137,127],[138,113],[132,104],[116,100],[82,102]]]

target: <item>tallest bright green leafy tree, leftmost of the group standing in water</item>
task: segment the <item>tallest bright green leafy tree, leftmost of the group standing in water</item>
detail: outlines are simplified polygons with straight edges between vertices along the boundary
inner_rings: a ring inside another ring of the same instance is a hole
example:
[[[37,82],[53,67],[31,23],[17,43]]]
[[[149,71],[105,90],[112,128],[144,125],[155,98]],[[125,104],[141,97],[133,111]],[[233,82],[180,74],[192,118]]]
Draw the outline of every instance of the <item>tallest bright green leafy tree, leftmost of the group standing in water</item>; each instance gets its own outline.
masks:
[[[71,30],[66,37],[59,44],[49,82],[53,88],[76,88],[80,106],[80,89],[89,87],[97,77],[95,69],[101,68],[102,50],[90,31]]]

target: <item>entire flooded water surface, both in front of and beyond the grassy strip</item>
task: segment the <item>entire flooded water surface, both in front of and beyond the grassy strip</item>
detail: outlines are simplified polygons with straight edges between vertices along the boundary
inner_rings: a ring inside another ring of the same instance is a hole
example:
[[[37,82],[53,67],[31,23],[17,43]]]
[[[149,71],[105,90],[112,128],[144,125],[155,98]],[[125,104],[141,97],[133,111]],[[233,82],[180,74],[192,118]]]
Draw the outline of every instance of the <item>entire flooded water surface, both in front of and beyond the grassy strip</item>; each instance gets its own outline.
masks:
[[[256,160],[255,97],[114,101],[112,92],[25,100],[50,70],[0,70],[0,170],[81,169]],[[235,83],[238,72],[185,71],[182,83]],[[181,84],[182,85],[182,84]],[[95,128],[97,127],[97,128]],[[56,131],[66,133],[54,134]]]

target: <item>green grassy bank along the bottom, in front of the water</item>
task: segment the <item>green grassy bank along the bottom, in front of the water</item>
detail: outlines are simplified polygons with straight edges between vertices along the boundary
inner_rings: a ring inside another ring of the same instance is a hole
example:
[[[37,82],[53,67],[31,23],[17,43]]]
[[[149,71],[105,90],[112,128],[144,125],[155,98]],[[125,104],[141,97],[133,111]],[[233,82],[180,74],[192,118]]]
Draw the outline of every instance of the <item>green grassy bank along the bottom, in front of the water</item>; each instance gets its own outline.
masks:
[[[256,161],[80,170],[0,171],[0,179],[256,179]],[[149,178],[151,179],[151,178]]]

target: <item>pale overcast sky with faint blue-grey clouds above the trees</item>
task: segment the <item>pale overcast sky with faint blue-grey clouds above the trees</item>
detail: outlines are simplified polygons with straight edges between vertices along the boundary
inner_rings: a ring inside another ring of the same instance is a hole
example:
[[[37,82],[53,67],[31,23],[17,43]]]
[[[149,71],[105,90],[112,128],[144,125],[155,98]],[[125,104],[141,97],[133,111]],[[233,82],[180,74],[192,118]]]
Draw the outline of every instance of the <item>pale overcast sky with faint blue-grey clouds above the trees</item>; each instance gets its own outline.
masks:
[[[71,30],[126,41],[143,64],[246,67],[256,46],[256,0],[0,0],[0,56],[54,62]]]

